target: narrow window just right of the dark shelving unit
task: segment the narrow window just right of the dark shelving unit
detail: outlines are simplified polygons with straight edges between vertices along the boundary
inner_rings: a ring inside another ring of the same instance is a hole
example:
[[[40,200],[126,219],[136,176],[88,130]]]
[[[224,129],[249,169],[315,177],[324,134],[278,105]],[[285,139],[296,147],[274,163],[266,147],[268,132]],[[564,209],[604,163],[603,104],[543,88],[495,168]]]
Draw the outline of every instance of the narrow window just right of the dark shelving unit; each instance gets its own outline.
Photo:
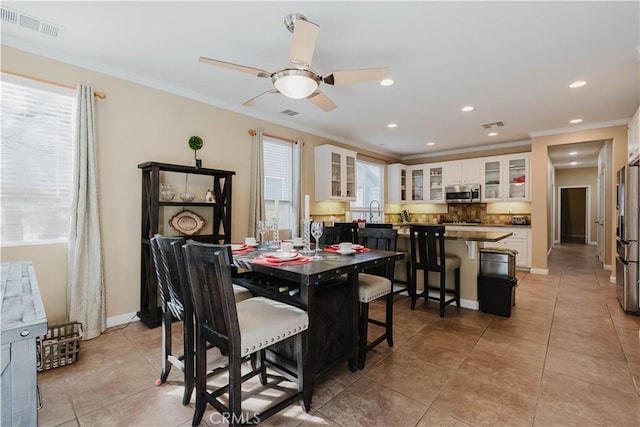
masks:
[[[263,139],[264,202],[266,219],[276,217],[278,201],[278,228],[293,227],[293,147],[291,143],[271,137]]]

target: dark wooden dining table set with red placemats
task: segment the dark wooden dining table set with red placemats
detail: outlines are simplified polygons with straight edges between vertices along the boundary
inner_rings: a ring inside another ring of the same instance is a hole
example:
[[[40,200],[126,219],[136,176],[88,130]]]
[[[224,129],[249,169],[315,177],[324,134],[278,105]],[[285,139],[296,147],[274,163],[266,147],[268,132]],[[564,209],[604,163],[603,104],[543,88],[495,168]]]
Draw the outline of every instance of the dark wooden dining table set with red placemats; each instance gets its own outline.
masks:
[[[238,250],[233,252],[238,271],[234,283],[256,296],[285,302],[307,311],[309,327],[302,346],[305,398],[311,401],[315,380],[348,362],[357,370],[358,355],[358,274],[404,258],[403,252],[362,248],[342,255],[326,246],[320,258],[300,254],[295,259],[277,259],[277,251]],[[267,360],[285,370],[295,372],[295,349],[288,340],[271,346]]]

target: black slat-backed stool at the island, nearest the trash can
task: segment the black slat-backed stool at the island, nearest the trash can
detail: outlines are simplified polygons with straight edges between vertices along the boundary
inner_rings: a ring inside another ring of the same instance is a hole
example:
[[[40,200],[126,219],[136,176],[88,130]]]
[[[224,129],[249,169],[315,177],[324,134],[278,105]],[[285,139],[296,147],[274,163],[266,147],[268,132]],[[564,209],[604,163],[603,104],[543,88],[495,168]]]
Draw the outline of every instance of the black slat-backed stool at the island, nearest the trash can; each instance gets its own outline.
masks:
[[[413,225],[409,229],[411,252],[411,277],[409,295],[411,310],[416,307],[418,298],[425,301],[434,300],[440,303],[440,317],[444,317],[445,307],[453,302],[460,307],[460,258],[448,255],[444,249],[445,227],[442,225]],[[423,291],[416,290],[417,272],[422,271]],[[454,271],[454,288],[447,288],[446,276]],[[429,272],[438,273],[438,285],[429,283]],[[437,296],[429,291],[436,291]],[[449,299],[447,299],[449,297]]]

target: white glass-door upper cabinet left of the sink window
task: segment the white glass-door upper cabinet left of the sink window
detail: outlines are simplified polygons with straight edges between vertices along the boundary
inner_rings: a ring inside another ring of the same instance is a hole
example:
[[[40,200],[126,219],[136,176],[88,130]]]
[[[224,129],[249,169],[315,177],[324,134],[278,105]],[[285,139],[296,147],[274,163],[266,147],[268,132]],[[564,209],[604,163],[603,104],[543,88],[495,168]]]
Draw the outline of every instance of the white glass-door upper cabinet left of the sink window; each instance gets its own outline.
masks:
[[[356,200],[355,151],[333,145],[315,147],[315,200]]]

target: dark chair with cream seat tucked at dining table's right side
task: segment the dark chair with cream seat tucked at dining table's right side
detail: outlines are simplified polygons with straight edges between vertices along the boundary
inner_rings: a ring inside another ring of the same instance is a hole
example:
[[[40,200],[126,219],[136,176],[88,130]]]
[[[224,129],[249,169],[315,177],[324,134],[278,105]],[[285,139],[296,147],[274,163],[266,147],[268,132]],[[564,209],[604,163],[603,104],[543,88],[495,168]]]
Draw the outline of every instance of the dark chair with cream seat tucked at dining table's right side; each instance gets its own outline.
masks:
[[[392,228],[360,228],[358,230],[360,244],[369,249],[395,251],[398,242],[398,231]],[[364,369],[367,352],[385,339],[389,347],[393,347],[393,273],[395,263],[385,263],[380,267],[367,269],[358,274],[358,368]],[[386,297],[386,316],[382,322],[369,318],[369,303]],[[382,326],[384,333],[367,343],[369,323]]]

